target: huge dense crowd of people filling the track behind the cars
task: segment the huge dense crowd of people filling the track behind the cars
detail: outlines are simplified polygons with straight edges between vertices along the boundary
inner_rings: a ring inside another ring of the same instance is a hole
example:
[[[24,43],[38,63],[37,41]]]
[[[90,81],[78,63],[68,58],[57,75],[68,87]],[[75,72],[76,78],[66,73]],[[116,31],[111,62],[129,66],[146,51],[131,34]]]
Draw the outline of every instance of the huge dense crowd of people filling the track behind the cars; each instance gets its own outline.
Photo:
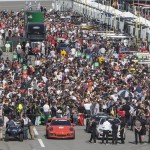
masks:
[[[84,125],[79,115],[105,112],[118,117],[118,110],[123,110],[126,126],[135,128],[136,137],[136,126],[145,127],[139,134],[144,141],[150,122],[148,65],[138,64],[133,55],[120,57],[121,51],[129,50],[121,39],[99,36],[94,29],[83,30],[62,17],[71,15],[82,22],[76,13],[45,10],[46,39],[34,48],[35,58],[29,56],[28,42],[13,48],[12,59],[3,58],[0,51],[0,117],[24,119],[26,114],[38,126],[42,115],[44,124],[49,117],[64,116]],[[24,37],[23,23],[22,11],[1,12],[0,44],[2,39]],[[128,94],[119,93],[123,90]]]

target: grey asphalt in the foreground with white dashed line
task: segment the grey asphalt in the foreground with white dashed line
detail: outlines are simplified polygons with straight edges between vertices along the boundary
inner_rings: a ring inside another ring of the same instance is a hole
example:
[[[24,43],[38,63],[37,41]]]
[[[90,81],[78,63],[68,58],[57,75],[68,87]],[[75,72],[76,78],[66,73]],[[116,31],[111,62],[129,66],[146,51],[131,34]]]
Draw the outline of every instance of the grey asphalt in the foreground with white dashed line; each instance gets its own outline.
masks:
[[[0,141],[0,150],[149,150],[150,144],[134,144],[133,131],[127,130],[125,144],[112,145],[111,140],[106,146],[97,140],[96,144],[89,144],[90,133],[85,132],[85,127],[76,126],[76,138],[47,139],[45,137],[45,126],[36,126],[38,135],[35,140],[25,140],[23,142],[11,140],[9,142]],[[147,135],[145,137],[147,141]],[[42,142],[42,143],[41,143]],[[43,146],[43,147],[42,147]]]

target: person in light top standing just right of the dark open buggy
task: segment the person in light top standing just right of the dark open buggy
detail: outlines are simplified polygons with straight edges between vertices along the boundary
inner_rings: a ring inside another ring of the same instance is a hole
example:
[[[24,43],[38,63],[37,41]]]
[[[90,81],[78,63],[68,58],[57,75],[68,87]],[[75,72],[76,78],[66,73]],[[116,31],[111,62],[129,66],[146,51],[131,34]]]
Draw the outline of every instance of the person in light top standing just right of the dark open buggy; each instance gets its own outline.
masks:
[[[23,114],[23,138],[24,140],[28,139],[28,127],[29,127],[29,118],[26,114]]]

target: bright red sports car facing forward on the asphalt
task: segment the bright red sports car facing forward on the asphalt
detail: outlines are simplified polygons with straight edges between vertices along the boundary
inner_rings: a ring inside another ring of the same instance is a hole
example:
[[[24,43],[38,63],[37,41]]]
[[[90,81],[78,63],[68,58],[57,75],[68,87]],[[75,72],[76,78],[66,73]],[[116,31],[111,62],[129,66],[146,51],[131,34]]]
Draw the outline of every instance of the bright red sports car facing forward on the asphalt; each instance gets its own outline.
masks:
[[[46,124],[46,136],[47,138],[75,139],[74,124],[66,118],[52,118],[51,122]]]

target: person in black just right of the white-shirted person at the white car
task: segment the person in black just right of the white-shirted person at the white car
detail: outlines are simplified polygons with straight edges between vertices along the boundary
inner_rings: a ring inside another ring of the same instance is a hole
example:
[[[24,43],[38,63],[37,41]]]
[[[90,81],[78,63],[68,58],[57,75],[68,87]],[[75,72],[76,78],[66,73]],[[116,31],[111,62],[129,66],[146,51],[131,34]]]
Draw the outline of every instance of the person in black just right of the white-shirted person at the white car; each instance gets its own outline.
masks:
[[[117,144],[118,143],[118,125],[113,121],[112,122],[112,144]]]

